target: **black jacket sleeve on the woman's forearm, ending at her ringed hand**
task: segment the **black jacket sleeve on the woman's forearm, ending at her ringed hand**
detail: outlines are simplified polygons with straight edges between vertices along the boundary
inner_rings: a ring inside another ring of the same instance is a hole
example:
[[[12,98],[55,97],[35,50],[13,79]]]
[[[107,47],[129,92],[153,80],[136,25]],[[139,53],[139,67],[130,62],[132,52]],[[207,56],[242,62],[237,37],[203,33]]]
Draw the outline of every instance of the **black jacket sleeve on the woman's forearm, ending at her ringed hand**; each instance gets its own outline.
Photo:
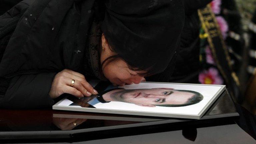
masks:
[[[9,87],[0,98],[1,108],[26,109],[49,108],[54,104],[49,91],[56,73],[18,75],[11,79]]]

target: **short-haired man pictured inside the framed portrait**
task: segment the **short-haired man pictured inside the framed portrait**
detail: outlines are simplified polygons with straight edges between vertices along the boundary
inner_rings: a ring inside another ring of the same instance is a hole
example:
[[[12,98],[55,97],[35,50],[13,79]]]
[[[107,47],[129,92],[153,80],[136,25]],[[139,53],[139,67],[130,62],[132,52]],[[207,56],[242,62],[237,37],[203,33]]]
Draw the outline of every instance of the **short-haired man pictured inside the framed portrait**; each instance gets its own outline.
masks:
[[[123,89],[106,90],[94,98],[81,98],[90,105],[108,103],[111,101],[132,103],[144,107],[182,107],[202,101],[203,95],[190,90],[175,90],[173,88]],[[76,105],[76,104],[71,104]]]

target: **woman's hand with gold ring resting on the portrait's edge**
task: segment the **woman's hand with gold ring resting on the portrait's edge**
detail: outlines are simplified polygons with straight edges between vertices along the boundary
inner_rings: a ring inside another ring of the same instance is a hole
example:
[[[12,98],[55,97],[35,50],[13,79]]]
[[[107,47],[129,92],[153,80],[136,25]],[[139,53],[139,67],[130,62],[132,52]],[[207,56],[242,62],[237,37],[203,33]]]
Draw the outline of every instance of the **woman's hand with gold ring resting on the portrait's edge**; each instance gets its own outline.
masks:
[[[72,80],[75,80],[73,86],[71,86]],[[84,75],[69,69],[64,69],[55,75],[49,95],[52,99],[55,99],[63,93],[72,94],[76,97],[98,94],[85,80]]]

